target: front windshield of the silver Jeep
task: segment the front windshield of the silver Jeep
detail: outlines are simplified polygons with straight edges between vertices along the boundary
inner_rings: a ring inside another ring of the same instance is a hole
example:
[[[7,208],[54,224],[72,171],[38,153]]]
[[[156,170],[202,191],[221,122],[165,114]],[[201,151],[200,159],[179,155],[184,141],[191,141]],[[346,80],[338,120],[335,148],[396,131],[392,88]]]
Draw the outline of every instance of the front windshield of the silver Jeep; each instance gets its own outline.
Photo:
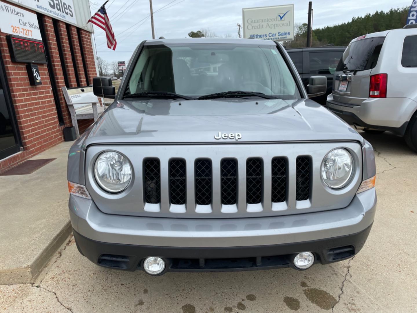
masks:
[[[124,96],[170,92],[197,98],[226,91],[300,98],[276,46],[236,44],[146,45]]]

